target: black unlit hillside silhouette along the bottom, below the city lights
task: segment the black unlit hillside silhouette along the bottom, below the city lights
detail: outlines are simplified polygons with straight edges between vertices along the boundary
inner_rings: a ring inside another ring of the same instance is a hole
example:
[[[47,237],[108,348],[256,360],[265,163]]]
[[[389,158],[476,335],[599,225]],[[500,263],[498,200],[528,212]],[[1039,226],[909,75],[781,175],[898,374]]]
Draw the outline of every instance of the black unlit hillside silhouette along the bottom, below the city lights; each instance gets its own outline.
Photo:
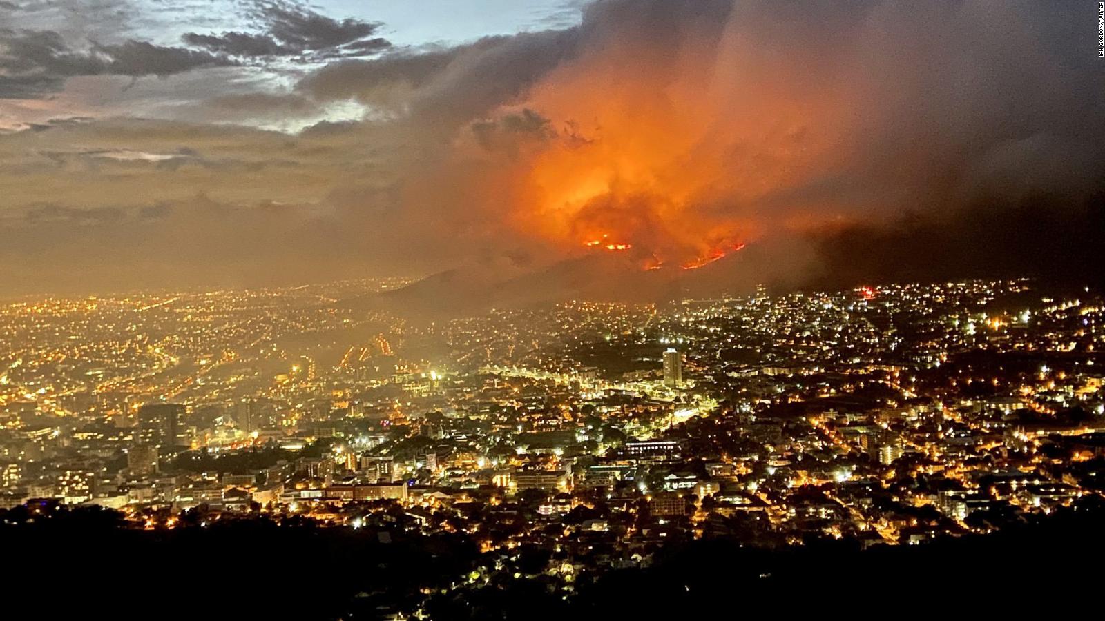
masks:
[[[34,619],[383,619],[412,611],[427,593],[431,618],[443,620],[1057,615],[1096,606],[1105,579],[1105,509],[1097,497],[1080,505],[920,546],[673,545],[649,568],[581,580],[570,599],[548,591],[539,575],[451,590],[481,556],[460,535],[266,518],[144,530],[109,511],[51,508],[32,519],[17,507],[0,512],[0,578],[8,612]]]

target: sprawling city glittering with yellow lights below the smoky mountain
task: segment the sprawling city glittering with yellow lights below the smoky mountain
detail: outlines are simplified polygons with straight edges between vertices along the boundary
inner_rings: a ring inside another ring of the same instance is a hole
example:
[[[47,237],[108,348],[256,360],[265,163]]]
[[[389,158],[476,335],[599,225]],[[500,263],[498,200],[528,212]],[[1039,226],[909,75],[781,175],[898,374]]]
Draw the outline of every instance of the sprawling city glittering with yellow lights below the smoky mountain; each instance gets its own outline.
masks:
[[[1105,492],[1090,290],[760,288],[444,322],[346,303],[406,283],[6,304],[0,519],[463,538],[464,575],[380,604],[428,618],[518,580],[570,601],[675,541],[924,545]]]

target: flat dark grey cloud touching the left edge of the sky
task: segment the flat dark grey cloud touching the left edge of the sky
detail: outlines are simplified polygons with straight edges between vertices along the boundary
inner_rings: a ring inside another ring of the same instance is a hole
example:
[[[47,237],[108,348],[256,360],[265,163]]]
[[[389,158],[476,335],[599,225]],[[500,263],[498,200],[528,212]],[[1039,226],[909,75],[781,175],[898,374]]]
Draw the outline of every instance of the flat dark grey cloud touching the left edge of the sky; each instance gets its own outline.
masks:
[[[77,75],[166,76],[233,64],[225,57],[144,41],[74,50],[53,31],[0,29],[0,98],[27,98],[60,91]]]

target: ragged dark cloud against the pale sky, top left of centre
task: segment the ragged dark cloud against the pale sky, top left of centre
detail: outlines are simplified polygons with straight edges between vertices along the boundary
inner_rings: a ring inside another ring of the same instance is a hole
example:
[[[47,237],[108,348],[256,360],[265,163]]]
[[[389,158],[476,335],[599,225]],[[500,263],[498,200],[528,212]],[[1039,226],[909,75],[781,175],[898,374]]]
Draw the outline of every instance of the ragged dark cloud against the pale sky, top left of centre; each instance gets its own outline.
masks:
[[[336,20],[293,2],[256,2],[248,14],[260,32],[186,33],[185,43],[234,56],[308,55],[313,60],[370,55],[391,46],[373,36],[382,25],[352,18]]]

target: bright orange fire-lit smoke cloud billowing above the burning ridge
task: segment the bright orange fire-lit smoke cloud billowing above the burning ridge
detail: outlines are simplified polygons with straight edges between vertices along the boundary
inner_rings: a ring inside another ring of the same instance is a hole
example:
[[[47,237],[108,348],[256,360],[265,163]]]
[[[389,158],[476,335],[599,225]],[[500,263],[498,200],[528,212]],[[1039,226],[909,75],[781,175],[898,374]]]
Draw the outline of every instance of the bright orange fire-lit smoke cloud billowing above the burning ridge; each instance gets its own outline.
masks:
[[[817,80],[735,29],[707,34],[650,62],[632,39],[581,54],[502,110],[540,115],[552,136],[515,151],[503,172],[514,227],[561,248],[635,249],[646,266],[693,269],[832,210],[764,203],[848,148],[844,128],[820,119],[846,116],[849,97],[811,96]]]

